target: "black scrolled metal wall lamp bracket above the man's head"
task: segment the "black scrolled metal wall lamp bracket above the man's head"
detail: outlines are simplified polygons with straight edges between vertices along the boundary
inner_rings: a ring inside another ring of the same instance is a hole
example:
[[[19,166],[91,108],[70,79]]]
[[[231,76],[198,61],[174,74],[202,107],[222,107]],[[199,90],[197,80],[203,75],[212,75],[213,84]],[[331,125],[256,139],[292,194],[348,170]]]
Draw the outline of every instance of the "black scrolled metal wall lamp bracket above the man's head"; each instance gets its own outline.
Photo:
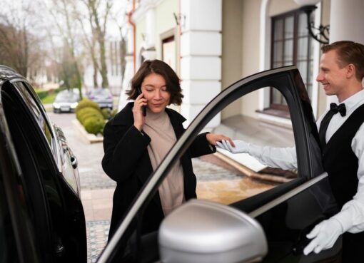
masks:
[[[320,25],[318,27],[315,27],[315,23],[311,20],[311,14],[313,11],[315,11],[315,9],[317,9],[317,6],[314,5],[300,7],[300,10],[304,11],[307,15],[307,29],[310,33],[310,36],[312,36],[315,41],[327,44],[329,43],[330,25]],[[318,33],[314,33],[313,31]]]

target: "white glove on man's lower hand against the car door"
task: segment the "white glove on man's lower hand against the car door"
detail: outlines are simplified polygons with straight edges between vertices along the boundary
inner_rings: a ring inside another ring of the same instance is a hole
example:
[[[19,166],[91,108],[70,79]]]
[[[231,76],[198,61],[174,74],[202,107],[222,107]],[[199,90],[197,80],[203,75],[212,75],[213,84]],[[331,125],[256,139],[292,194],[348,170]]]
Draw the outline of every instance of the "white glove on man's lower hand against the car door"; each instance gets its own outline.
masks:
[[[338,220],[330,218],[320,222],[306,235],[313,240],[303,249],[303,254],[308,255],[310,252],[318,254],[323,249],[333,247],[340,234],[343,234],[343,227]]]

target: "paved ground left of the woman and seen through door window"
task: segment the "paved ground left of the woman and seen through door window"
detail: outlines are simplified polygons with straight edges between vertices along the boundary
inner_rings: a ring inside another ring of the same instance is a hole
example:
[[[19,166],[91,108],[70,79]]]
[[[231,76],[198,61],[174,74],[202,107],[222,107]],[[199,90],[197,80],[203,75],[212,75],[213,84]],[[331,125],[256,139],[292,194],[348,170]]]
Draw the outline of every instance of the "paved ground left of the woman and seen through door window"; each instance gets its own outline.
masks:
[[[75,118],[74,114],[49,115],[62,128],[70,148],[78,158],[81,200],[88,234],[88,262],[96,262],[106,245],[116,182],[102,170],[102,143],[89,144],[79,138],[71,123]],[[255,195],[275,185],[251,180],[213,155],[193,159],[193,170],[198,178],[198,198],[225,204]]]

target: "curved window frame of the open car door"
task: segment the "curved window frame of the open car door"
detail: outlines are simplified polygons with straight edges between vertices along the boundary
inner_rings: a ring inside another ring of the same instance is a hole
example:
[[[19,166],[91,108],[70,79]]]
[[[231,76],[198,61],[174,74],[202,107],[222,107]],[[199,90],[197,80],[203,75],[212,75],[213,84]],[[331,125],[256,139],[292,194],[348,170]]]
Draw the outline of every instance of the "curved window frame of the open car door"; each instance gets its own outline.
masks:
[[[151,201],[153,195],[158,190],[158,186],[166,177],[168,170],[186,152],[189,145],[191,145],[194,138],[196,138],[206,124],[229,103],[247,93],[265,87],[277,88],[289,105],[298,159],[299,177],[296,182],[303,184],[323,173],[320,161],[317,160],[317,158],[320,158],[320,155],[317,153],[317,145],[319,145],[318,132],[313,117],[313,110],[298,69],[295,66],[286,66],[248,76],[221,91],[196,116],[185,133],[183,133],[166,155],[166,158],[163,159],[156,171],[153,172],[143,185],[133,204],[129,207],[118,230],[116,230],[111,240],[108,241],[108,245],[103,250],[98,262],[109,262],[113,249],[118,246],[124,232],[126,232],[138,211]],[[290,188],[286,191],[288,192],[289,190]]]

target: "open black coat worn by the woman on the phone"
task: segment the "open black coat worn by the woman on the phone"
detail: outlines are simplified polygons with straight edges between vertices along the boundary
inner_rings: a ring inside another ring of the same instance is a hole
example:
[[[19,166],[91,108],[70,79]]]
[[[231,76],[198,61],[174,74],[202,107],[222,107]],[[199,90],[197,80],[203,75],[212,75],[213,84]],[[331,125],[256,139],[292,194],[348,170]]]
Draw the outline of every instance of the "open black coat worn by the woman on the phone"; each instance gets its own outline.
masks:
[[[128,103],[123,110],[106,123],[103,130],[103,150],[105,155],[102,167],[111,179],[117,182],[113,194],[113,212],[109,238],[116,231],[120,220],[128,210],[141,187],[153,172],[147,146],[151,138],[141,133],[133,125],[133,103]],[[176,138],[184,132],[182,123],[186,120],[175,110],[166,108],[166,113]],[[190,148],[181,157],[183,167],[185,199],[196,198],[196,176],[193,174],[191,158],[214,153],[216,148],[206,140],[206,133],[196,137]],[[143,212],[142,233],[158,230],[163,220],[163,210],[158,192]]]

